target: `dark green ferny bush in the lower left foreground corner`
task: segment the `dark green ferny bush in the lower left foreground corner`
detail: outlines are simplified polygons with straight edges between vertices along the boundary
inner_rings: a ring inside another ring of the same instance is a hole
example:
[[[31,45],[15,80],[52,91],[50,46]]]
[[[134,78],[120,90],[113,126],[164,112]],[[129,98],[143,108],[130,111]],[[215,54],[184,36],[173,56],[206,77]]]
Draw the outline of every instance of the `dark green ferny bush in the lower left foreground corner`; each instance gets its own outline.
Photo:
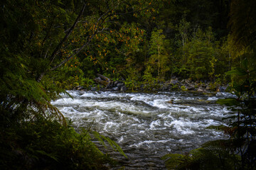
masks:
[[[89,130],[78,134],[70,125],[40,117],[1,129],[1,169],[107,169],[103,164],[112,162]]]

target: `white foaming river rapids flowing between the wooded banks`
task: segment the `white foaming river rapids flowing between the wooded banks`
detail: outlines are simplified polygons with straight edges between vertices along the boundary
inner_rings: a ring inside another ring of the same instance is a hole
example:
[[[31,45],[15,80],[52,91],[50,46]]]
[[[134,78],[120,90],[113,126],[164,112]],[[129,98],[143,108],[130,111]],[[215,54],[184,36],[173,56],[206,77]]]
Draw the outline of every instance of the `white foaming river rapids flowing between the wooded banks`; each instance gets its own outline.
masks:
[[[206,129],[223,124],[228,109],[215,102],[232,96],[183,91],[119,93],[68,91],[72,98],[53,101],[75,128],[92,129],[122,147],[128,159],[114,155],[125,169],[165,169],[161,157],[188,152],[209,140],[223,139],[222,132]]]

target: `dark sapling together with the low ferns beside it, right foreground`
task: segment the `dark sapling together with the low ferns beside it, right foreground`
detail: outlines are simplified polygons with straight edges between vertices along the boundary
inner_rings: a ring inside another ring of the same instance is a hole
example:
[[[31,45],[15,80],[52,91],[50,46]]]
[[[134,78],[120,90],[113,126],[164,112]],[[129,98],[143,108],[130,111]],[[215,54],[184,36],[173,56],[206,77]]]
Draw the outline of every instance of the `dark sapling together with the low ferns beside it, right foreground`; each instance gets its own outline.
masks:
[[[237,98],[219,99],[217,103],[229,107],[227,125],[210,126],[221,130],[228,140],[206,142],[202,148],[188,154],[168,154],[164,157],[169,169],[255,169],[256,100],[254,68],[246,60],[228,74],[237,75],[230,91]]]

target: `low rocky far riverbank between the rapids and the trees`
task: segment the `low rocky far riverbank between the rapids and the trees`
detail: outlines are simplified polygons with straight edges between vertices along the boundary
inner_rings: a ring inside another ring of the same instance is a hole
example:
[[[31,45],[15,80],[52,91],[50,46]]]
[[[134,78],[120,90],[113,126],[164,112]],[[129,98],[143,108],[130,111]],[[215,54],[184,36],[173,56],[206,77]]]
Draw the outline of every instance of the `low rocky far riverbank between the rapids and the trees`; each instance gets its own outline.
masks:
[[[212,83],[209,81],[192,81],[191,79],[178,78],[170,81],[159,81],[154,84],[144,82],[111,81],[104,84],[92,84],[90,86],[76,86],[73,90],[80,91],[132,91],[132,92],[157,92],[157,91],[202,91],[202,92],[224,92],[228,85]]]

